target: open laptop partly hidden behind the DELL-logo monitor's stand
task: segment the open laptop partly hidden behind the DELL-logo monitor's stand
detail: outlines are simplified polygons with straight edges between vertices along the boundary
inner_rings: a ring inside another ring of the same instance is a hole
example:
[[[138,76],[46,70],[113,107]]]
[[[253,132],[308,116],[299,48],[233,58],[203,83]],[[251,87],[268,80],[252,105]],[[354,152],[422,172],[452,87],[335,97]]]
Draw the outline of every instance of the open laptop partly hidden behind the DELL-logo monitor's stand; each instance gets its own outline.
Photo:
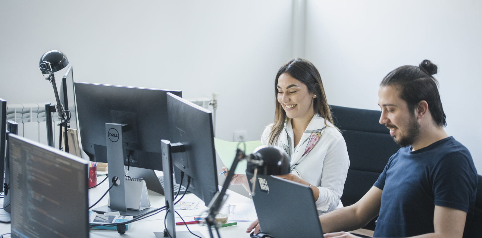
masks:
[[[154,170],[131,167],[127,175],[134,178],[143,178],[146,181],[147,189],[164,195],[164,177],[158,177]],[[179,185],[174,182],[174,194],[176,194],[177,191],[179,191]],[[182,195],[184,191],[186,191],[186,187],[181,186],[179,193]],[[187,190],[186,193],[190,193],[189,190]]]

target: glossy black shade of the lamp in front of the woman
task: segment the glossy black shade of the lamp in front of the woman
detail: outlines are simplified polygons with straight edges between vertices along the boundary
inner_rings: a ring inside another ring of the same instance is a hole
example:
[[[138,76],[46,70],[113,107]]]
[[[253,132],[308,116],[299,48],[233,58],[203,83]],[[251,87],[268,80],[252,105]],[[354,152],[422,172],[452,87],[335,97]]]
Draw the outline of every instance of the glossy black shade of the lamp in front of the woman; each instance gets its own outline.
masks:
[[[251,159],[263,159],[261,166],[248,162],[246,171],[254,173],[258,168],[257,174],[261,175],[284,175],[290,173],[290,157],[286,152],[278,147],[262,145],[254,149]]]

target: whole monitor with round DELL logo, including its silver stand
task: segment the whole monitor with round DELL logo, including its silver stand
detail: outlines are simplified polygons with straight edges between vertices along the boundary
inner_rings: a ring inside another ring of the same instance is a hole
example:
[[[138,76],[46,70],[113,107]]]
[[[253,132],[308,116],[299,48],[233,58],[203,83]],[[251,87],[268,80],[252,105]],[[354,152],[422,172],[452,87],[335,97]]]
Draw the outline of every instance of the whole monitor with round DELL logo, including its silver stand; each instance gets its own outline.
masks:
[[[82,148],[91,160],[108,163],[109,185],[112,181],[119,183],[109,191],[110,205],[93,211],[118,211],[134,217],[149,212],[153,208],[127,207],[125,197],[132,191],[124,186],[124,166],[128,170],[150,170],[150,174],[163,171],[160,141],[171,138],[166,93],[181,96],[181,91],[81,82],[74,85]],[[160,187],[161,179],[146,179],[147,188]]]

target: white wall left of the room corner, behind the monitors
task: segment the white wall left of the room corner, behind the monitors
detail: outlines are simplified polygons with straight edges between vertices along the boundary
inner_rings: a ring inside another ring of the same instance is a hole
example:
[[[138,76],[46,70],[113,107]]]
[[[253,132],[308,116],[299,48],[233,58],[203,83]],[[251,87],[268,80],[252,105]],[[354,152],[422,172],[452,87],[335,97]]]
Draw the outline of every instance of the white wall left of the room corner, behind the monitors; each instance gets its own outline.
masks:
[[[75,81],[184,97],[218,92],[216,137],[231,141],[246,130],[247,140],[259,140],[273,121],[274,77],[291,56],[291,20],[291,0],[2,1],[0,97],[54,102],[38,68],[55,49]]]

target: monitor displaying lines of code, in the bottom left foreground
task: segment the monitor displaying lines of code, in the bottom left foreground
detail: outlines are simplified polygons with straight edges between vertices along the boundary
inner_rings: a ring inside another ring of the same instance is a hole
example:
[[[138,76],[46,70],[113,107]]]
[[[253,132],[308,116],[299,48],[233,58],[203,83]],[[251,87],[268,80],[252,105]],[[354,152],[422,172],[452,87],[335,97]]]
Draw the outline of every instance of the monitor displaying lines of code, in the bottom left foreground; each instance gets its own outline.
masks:
[[[88,162],[9,135],[13,238],[89,238]]]

